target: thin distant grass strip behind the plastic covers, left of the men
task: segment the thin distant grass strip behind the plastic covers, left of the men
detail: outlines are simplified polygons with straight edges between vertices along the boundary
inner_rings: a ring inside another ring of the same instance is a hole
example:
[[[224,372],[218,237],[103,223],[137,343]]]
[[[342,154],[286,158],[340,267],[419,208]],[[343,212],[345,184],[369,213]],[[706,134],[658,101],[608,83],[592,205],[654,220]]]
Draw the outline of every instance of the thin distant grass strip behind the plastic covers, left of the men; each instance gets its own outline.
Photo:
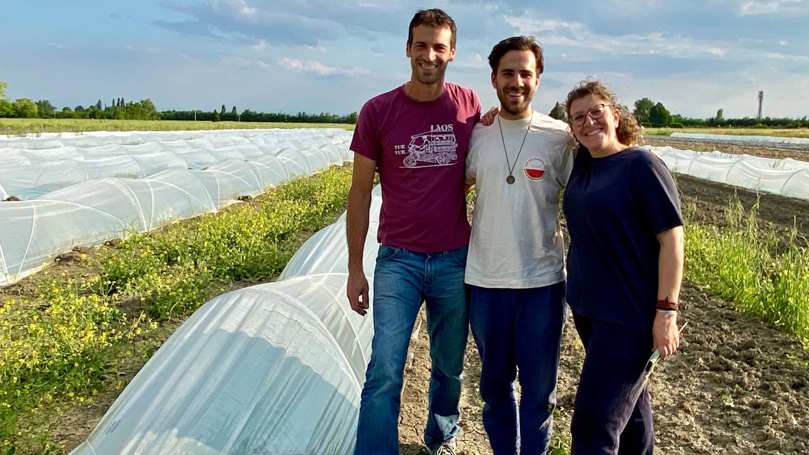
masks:
[[[182,120],[108,120],[71,118],[0,118],[0,134],[63,133],[82,131],[177,131],[235,130],[255,128],[341,128],[354,130],[345,123],[286,123],[253,121],[182,121]]]

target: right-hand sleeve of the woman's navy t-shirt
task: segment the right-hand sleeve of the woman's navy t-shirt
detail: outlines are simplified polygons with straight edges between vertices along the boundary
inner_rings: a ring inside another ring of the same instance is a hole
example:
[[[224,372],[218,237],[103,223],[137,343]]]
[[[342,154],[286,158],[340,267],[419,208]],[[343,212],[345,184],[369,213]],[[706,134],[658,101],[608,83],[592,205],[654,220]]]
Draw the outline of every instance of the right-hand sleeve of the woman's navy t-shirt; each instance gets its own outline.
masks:
[[[654,233],[683,225],[680,196],[666,164],[657,156],[645,154],[637,159],[633,172],[633,194]]]

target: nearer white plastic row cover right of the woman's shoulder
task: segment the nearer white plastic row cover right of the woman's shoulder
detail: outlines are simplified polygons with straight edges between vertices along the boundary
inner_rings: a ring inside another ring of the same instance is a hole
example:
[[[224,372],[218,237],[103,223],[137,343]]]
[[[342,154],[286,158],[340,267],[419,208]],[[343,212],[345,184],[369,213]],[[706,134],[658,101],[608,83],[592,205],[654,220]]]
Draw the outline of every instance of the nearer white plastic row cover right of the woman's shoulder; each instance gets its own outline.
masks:
[[[752,189],[761,193],[809,199],[809,162],[701,152],[672,147],[646,147],[657,153],[671,172]]]

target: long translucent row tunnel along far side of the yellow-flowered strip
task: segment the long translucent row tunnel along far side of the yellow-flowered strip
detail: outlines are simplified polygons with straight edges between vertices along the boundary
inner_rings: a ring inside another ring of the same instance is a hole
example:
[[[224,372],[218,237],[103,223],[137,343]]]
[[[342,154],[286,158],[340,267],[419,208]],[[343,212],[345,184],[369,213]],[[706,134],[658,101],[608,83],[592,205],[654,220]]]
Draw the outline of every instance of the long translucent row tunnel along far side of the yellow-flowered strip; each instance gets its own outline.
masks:
[[[204,170],[167,168],[145,178],[85,179],[36,198],[0,202],[0,285],[15,283],[76,246],[99,245],[130,230],[150,231],[342,164],[342,149],[348,150],[347,142],[303,150],[285,147],[277,155],[251,161],[225,159]],[[37,169],[60,176],[47,166]],[[41,182],[31,191],[47,186]]]

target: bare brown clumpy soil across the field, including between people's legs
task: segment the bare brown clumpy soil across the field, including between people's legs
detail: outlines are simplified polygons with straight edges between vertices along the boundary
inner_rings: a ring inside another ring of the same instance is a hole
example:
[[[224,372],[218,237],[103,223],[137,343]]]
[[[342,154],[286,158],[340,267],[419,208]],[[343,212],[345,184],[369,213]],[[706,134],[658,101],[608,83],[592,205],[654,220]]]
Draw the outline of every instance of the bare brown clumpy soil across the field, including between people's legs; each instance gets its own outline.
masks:
[[[649,141],[653,142],[653,141]],[[667,145],[655,140],[652,145]],[[748,147],[671,142],[672,147],[720,150],[729,153],[809,159],[800,151],[769,151]],[[702,147],[702,148],[697,148]],[[694,203],[705,223],[723,223],[728,198],[738,193],[745,206],[756,203],[755,193],[726,185],[678,176],[684,203]],[[762,196],[760,219],[765,228],[786,232],[793,225],[809,236],[809,203],[777,196]],[[70,256],[70,255],[69,255]],[[67,270],[83,273],[81,263],[65,257]],[[249,283],[242,283],[248,285]],[[18,284],[25,287],[25,280]],[[21,289],[20,289],[21,290]],[[6,292],[11,291],[6,288]],[[685,283],[680,323],[688,321],[680,351],[661,362],[651,378],[656,425],[656,451],[666,454],[809,453],[809,351],[794,338],[773,329],[758,317],[735,311],[709,290]],[[423,315],[420,316],[423,318]],[[156,350],[181,321],[163,325],[150,340],[133,344],[133,351]],[[417,324],[418,325],[418,324]],[[430,377],[426,330],[417,330],[411,342],[413,361],[405,371],[400,415],[400,451],[426,453],[421,441],[426,422],[426,390]],[[558,408],[553,446],[567,453],[570,416],[578,385],[583,349],[572,321],[565,326],[558,381]],[[121,385],[102,391],[92,403],[76,405],[53,421],[53,435],[65,444],[64,453],[86,439],[118,393],[131,380],[148,355],[121,365]],[[462,432],[459,453],[491,453],[481,423],[482,402],[477,391],[480,362],[470,338],[462,391]],[[115,379],[115,378],[113,378]]]

